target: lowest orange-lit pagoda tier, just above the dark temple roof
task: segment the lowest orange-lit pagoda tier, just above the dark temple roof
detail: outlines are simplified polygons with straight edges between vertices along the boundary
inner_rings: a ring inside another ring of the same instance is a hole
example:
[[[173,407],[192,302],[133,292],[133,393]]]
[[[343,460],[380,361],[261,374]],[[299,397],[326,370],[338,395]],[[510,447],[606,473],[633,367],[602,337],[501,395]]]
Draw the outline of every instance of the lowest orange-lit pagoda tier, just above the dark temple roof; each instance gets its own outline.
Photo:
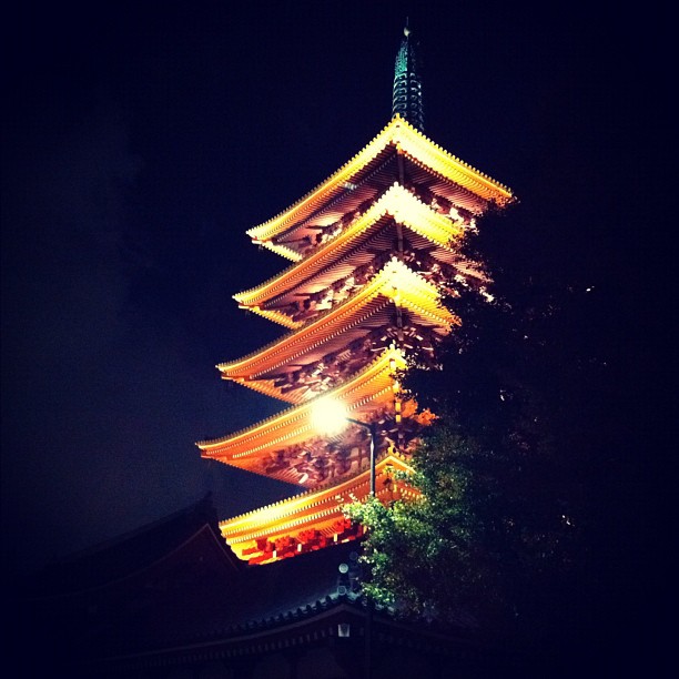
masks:
[[[409,472],[406,459],[387,455],[375,467],[375,494],[383,501],[414,496],[394,478],[394,472]],[[250,564],[268,564],[298,554],[322,549],[363,535],[342,508],[361,501],[369,493],[369,470],[322,489],[308,490],[275,505],[220,521],[220,530],[233,553]]]

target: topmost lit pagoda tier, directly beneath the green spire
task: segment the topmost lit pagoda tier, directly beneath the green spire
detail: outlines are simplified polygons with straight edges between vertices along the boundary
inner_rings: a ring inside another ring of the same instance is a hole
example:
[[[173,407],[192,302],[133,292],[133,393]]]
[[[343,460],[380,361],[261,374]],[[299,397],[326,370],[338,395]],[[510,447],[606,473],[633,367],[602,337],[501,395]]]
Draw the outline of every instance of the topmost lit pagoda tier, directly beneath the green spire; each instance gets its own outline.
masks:
[[[372,142],[277,216],[247,231],[253,242],[300,261],[337,237],[398,181],[424,203],[469,222],[514,201],[511,192],[432,142],[396,114]]]

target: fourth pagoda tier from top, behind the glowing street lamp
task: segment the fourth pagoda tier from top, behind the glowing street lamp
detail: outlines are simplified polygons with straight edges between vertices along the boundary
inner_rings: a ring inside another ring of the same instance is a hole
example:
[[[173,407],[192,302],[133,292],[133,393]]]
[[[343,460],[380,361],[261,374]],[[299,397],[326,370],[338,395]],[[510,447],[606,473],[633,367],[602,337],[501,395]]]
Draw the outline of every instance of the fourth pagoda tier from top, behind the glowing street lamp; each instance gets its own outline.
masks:
[[[353,419],[375,423],[376,459],[407,450],[428,422],[428,414],[417,413],[412,399],[402,402],[397,374],[405,367],[399,349],[386,349],[352,379],[320,397],[342,402]],[[308,488],[366,469],[366,429],[349,425],[332,438],[322,436],[313,425],[317,401],[287,408],[231,436],[200,442],[202,457]]]

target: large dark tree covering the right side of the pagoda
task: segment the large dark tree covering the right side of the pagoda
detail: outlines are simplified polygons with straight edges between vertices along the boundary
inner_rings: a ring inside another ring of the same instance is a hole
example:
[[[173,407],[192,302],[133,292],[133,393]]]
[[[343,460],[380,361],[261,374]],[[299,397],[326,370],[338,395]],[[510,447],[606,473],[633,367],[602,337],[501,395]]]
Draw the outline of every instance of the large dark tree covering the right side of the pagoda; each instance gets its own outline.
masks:
[[[418,371],[415,357],[404,378],[439,416],[413,457],[422,498],[349,514],[368,529],[366,592],[378,602],[472,614],[498,638],[575,652],[600,636],[620,548],[616,300],[588,272],[540,271],[503,239],[469,239],[494,297],[448,296],[463,326],[439,352],[442,369]]]

